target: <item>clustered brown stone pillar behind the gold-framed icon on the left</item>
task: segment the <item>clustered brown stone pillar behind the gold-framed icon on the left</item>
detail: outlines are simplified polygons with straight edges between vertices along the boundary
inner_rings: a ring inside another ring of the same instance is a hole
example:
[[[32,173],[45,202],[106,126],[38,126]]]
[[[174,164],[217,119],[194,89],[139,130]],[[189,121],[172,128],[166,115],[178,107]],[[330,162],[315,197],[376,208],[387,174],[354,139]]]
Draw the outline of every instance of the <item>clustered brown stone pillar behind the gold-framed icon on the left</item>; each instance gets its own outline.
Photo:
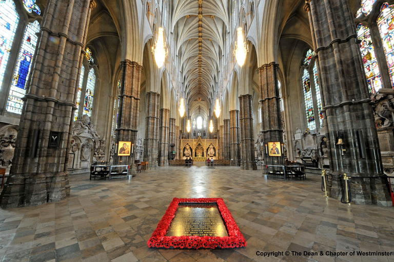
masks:
[[[136,144],[138,132],[138,118],[140,112],[140,84],[142,66],[128,59],[121,62],[121,95],[119,99],[119,116],[116,128],[116,143],[120,141]],[[117,150],[123,145],[118,144]],[[136,146],[134,146],[134,150]],[[131,150],[131,148],[130,148]],[[115,165],[133,166],[134,154],[130,156],[117,156],[115,153],[113,163]]]

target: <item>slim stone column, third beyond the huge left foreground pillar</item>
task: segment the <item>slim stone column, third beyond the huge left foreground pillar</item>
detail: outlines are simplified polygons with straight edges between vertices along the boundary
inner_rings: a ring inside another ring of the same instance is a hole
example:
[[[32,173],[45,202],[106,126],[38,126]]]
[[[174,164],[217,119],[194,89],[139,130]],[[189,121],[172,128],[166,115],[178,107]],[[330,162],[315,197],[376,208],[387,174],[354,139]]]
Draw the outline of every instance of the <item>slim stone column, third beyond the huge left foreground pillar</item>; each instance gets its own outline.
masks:
[[[168,166],[168,145],[170,132],[170,110],[160,110],[159,165]],[[162,162],[164,161],[164,162]]]

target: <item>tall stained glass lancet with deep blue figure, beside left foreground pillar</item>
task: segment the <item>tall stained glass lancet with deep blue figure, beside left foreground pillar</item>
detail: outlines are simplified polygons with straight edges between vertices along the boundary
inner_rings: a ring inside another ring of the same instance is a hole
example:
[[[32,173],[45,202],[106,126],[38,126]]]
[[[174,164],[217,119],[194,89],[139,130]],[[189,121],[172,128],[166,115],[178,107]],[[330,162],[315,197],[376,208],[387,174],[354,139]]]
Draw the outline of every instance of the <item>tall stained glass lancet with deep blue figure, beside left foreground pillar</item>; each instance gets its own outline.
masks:
[[[27,78],[31,69],[31,60],[37,43],[36,33],[40,31],[40,23],[34,21],[26,27],[22,47],[19,51],[15,73],[11,84],[10,95],[7,102],[7,111],[16,114],[22,113],[22,97],[26,93]]]

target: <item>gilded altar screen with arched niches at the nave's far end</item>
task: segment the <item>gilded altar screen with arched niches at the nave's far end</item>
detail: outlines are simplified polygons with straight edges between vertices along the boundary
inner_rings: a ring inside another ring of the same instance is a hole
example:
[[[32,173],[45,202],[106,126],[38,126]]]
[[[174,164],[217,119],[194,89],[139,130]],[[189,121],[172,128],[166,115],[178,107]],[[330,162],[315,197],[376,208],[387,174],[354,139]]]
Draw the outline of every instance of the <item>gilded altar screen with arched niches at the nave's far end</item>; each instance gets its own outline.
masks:
[[[182,139],[180,144],[182,159],[192,158],[196,162],[209,159],[219,159],[219,145],[217,139]]]

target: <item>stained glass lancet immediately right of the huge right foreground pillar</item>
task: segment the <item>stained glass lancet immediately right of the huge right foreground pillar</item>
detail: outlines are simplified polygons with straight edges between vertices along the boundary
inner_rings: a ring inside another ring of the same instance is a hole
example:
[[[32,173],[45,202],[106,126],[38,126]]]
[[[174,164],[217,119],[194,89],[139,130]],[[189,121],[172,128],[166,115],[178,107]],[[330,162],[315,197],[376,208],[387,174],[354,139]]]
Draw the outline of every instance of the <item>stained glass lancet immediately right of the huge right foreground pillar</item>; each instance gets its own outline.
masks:
[[[357,33],[359,35],[359,40],[361,40],[360,50],[363,58],[364,71],[367,77],[369,92],[371,94],[375,94],[382,88],[382,82],[371,33],[369,28],[362,24],[357,26]]]

